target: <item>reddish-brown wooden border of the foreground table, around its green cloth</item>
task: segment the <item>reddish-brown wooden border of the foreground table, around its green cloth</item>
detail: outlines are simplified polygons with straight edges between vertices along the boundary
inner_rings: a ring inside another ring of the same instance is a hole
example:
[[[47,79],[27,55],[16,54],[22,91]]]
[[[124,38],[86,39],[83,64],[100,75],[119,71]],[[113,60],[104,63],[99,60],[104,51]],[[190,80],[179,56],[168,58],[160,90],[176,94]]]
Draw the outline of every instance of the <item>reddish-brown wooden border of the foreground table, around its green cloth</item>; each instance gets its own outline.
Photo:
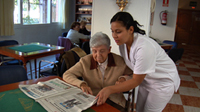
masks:
[[[59,77],[59,76],[42,77],[42,78],[38,78],[38,79],[32,79],[32,80],[27,80],[27,81],[22,81],[22,82],[17,82],[17,83],[12,83],[12,84],[0,86],[0,92],[17,89],[17,88],[19,88],[18,86],[20,84],[36,84],[39,81],[47,81],[47,80],[54,79],[54,78],[59,78],[59,79],[62,80],[62,78]],[[91,108],[93,110],[95,110],[96,112],[120,112],[116,108],[114,108],[114,107],[112,107],[112,106],[110,106],[109,104],[106,104],[106,103],[103,104],[103,105],[100,105],[100,106],[94,105]]]

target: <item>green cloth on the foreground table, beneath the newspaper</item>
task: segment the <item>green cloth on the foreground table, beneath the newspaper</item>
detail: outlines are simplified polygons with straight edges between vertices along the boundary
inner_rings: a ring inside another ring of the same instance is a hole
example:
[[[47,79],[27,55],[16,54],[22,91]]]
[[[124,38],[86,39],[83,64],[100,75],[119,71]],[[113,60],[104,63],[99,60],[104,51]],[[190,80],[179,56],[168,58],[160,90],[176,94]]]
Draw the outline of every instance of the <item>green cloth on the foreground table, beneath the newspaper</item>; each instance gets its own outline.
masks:
[[[20,89],[0,92],[1,112],[46,112],[35,100],[29,98]],[[89,108],[83,112],[95,112]]]

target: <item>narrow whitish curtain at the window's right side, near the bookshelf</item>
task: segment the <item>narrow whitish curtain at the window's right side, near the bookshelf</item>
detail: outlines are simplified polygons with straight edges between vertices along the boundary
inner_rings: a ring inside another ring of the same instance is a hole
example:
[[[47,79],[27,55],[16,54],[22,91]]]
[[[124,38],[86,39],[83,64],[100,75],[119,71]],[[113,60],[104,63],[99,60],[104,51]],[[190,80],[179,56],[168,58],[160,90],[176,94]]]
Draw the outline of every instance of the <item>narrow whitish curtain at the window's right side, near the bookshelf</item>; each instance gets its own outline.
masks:
[[[60,0],[60,25],[62,29],[65,29],[68,25],[69,19],[69,0]]]

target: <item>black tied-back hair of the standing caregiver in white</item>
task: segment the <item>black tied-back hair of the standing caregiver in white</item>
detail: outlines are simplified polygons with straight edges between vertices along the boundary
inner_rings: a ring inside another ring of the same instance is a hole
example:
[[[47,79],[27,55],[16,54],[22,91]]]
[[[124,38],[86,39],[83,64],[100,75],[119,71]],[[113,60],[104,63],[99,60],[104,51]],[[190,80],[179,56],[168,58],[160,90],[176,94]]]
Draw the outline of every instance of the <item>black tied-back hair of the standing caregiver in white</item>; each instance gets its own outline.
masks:
[[[133,17],[131,16],[131,14],[129,14],[128,12],[118,12],[116,13],[112,19],[110,20],[110,23],[115,22],[115,21],[119,21],[122,22],[122,24],[126,27],[126,29],[128,30],[130,28],[130,26],[134,27],[134,32],[140,33],[142,35],[145,34],[144,30],[141,30],[138,26],[143,26],[140,25],[137,21],[135,21],[133,19]]]

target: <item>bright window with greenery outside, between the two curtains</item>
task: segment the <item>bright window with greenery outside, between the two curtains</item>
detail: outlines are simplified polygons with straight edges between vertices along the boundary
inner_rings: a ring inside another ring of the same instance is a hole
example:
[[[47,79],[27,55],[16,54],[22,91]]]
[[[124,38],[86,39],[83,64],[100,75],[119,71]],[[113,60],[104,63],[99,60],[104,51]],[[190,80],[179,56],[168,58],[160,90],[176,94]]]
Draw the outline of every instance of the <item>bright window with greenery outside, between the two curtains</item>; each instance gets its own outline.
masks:
[[[30,25],[59,22],[58,2],[59,0],[15,0],[14,23]]]

